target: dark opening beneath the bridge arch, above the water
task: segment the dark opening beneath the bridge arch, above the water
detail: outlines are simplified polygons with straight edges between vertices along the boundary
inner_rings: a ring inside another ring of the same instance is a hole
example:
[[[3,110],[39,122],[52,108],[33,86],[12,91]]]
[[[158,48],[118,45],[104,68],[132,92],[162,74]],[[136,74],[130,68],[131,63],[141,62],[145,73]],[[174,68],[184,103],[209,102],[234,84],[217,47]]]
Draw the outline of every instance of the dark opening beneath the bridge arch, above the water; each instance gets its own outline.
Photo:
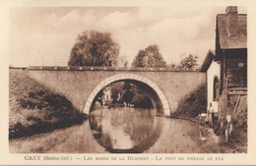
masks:
[[[135,80],[107,84],[96,94],[90,111],[97,106],[154,109],[158,115],[163,115],[158,94],[148,84]]]

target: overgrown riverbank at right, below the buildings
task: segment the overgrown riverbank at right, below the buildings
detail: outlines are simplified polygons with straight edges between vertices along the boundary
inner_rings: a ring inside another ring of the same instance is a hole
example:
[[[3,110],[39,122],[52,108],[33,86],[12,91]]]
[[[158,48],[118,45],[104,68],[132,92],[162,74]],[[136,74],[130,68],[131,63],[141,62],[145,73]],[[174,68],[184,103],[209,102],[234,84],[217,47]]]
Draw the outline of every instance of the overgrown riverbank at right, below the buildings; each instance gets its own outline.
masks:
[[[198,115],[201,113],[207,112],[206,105],[206,87],[201,86],[195,90],[191,95],[178,107],[178,111],[171,115],[171,118],[183,119],[198,125],[201,125],[204,128],[213,130],[214,134],[220,138],[220,145],[231,149],[231,153],[246,153],[247,152],[247,97],[241,97],[240,103],[237,106],[237,111],[233,115],[232,125],[233,130],[228,136],[228,140],[225,142],[225,126],[221,126],[221,123],[218,122],[218,117],[214,119],[214,128],[211,129],[208,125],[199,124]],[[225,120],[224,120],[225,121]],[[207,136],[206,136],[207,137]]]

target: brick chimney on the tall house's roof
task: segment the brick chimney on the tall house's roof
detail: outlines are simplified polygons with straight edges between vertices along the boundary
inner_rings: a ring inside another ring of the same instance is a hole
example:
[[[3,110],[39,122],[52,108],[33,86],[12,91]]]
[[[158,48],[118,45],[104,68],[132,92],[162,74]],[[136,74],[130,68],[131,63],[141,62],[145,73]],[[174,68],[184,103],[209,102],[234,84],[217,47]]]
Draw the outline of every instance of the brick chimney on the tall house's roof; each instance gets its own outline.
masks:
[[[230,37],[238,34],[237,13],[237,6],[228,6],[225,9],[225,23]]]

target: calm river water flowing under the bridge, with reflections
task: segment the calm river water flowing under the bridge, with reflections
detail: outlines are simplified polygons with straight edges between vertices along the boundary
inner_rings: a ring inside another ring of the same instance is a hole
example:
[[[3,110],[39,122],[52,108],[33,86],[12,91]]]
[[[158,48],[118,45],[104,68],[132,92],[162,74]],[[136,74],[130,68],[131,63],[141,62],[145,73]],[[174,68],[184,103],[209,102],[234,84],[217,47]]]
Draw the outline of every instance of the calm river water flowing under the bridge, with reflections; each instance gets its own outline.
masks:
[[[10,140],[15,153],[231,152],[212,130],[150,109],[98,107],[81,125]]]

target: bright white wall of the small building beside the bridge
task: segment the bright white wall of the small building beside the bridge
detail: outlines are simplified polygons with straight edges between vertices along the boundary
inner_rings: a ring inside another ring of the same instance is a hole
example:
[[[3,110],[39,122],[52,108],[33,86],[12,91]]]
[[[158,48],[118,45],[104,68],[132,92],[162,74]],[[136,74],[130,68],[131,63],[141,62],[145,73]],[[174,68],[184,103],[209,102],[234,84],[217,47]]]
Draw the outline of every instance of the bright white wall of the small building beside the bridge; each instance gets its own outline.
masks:
[[[218,99],[214,100],[214,79],[218,77],[220,81],[220,64],[212,62],[211,66],[207,71],[207,105],[212,102],[214,111],[218,113]]]

